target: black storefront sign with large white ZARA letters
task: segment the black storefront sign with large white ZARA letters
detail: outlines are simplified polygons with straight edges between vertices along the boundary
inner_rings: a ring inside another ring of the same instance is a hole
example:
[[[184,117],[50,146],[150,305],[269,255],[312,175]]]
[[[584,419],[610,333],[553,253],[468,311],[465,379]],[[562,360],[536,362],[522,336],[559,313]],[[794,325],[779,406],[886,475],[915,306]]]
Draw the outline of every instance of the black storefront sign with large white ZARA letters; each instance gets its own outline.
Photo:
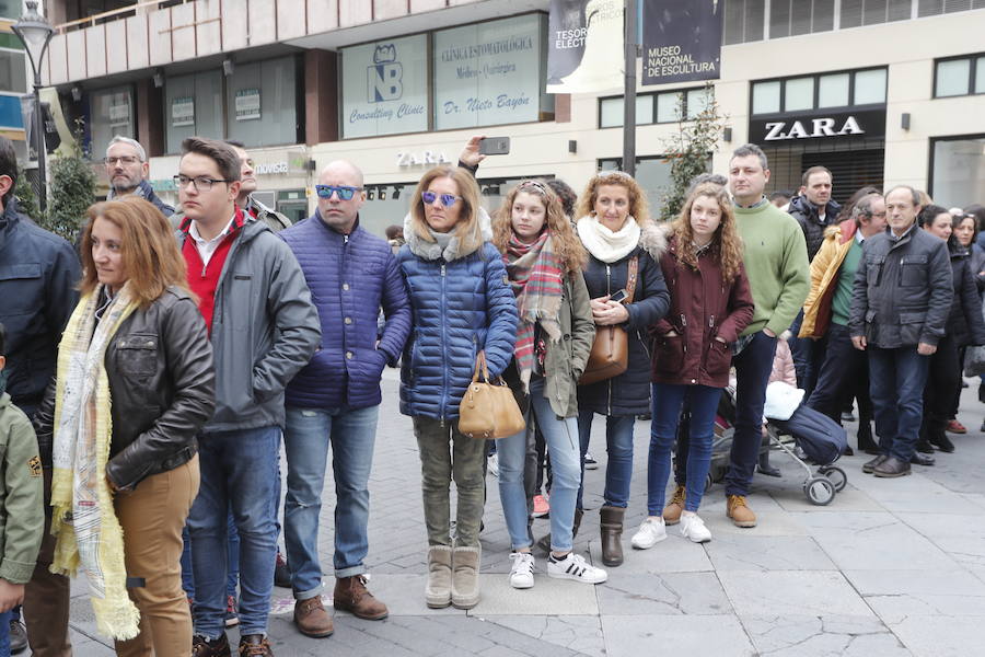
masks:
[[[884,136],[885,110],[837,112],[823,116],[787,115],[749,122],[749,138],[753,143]]]

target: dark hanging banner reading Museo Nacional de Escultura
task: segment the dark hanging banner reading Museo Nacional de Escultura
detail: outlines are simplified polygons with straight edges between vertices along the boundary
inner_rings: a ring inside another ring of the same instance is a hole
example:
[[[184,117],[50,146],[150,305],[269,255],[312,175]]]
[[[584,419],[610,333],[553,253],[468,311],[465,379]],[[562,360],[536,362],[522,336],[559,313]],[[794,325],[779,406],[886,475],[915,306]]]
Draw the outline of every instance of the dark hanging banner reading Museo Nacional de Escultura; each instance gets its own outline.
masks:
[[[721,77],[722,0],[642,0],[642,83]]]

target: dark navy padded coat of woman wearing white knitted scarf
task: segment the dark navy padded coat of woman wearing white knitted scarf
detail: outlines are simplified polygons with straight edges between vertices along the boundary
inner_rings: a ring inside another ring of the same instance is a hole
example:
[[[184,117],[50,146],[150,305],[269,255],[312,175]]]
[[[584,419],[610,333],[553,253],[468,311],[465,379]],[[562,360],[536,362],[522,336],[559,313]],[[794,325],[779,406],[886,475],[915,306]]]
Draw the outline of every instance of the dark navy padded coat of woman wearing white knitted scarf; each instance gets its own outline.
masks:
[[[660,268],[664,251],[667,238],[663,231],[653,224],[647,224],[639,237],[639,245],[626,257],[606,265],[594,256],[589,256],[584,283],[592,299],[626,287],[630,258],[639,257],[639,265],[633,303],[626,306],[629,320],[623,324],[629,334],[629,367],[618,377],[579,385],[579,411],[591,410],[601,415],[641,415],[650,412],[650,345],[647,327],[670,309],[670,293]]]

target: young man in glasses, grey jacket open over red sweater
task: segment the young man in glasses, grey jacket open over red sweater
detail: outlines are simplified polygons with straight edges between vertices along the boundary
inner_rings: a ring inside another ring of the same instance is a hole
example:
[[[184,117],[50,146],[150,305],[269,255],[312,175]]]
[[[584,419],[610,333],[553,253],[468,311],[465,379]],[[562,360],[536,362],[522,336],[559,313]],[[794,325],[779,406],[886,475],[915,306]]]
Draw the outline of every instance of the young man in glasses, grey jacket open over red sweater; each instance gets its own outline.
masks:
[[[283,389],[314,354],[317,311],[283,241],[236,207],[240,157],[190,137],[175,183],[179,246],[216,364],[216,412],[198,437],[201,484],[188,516],[195,657],[230,655],[225,636],[227,517],[240,535],[240,654],[273,655],[278,454]]]

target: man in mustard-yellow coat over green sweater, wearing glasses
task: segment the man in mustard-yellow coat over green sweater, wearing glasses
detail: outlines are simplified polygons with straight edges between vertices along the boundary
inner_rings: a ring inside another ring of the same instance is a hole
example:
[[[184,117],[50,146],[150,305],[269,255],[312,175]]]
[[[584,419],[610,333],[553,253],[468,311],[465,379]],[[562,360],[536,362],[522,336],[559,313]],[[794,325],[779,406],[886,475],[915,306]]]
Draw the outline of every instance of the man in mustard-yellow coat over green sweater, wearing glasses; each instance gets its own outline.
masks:
[[[811,291],[803,303],[800,337],[823,344],[824,359],[818,369],[818,382],[807,405],[842,424],[842,408],[853,393],[859,393],[860,424],[858,449],[878,454],[868,429],[871,401],[866,355],[851,345],[848,316],[855,273],[862,257],[862,244],[885,231],[885,200],[881,194],[862,196],[851,210],[851,218],[827,229],[824,241],[811,261]],[[867,406],[862,412],[862,406]]]

